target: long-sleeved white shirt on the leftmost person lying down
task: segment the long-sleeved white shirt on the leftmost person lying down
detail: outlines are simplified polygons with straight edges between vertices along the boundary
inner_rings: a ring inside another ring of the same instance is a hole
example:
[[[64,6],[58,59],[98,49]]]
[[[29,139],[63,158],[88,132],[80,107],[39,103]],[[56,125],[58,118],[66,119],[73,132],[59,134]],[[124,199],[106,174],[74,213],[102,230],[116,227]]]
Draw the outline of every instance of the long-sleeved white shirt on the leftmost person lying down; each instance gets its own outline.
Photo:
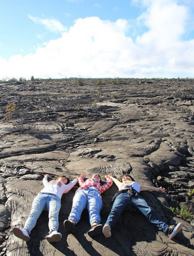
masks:
[[[62,194],[69,192],[72,187],[76,185],[77,178],[75,178],[67,185],[58,180],[48,181],[45,177],[43,178],[42,182],[45,187],[40,191],[40,193],[51,193],[57,195],[58,198],[61,199]]]

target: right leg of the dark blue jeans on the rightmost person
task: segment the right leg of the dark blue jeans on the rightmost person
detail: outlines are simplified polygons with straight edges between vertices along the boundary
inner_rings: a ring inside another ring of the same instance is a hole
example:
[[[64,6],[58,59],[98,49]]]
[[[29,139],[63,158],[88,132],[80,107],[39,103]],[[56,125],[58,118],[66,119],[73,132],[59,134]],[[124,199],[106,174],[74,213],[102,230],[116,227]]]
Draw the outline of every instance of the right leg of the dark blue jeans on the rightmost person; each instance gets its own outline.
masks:
[[[146,203],[145,199],[140,196],[133,196],[131,200],[134,207],[142,212],[142,214],[145,215],[152,224],[157,226],[159,230],[162,230],[162,232],[167,233],[169,227],[168,224],[162,221],[161,217],[159,217],[154,209]]]

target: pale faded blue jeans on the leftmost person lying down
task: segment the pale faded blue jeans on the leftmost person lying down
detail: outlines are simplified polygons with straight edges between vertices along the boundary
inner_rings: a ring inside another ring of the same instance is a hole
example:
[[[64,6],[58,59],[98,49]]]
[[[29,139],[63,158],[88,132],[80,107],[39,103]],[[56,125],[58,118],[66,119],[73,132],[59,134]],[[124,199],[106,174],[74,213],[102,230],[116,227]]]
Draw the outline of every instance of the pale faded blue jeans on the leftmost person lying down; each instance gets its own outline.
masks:
[[[32,209],[26,220],[24,229],[29,233],[36,226],[36,221],[40,217],[43,210],[49,211],[49,233],[58,230],[58,214],[61,208],[61,200],[58,196],[50,193],[38,193],[32,203]]]

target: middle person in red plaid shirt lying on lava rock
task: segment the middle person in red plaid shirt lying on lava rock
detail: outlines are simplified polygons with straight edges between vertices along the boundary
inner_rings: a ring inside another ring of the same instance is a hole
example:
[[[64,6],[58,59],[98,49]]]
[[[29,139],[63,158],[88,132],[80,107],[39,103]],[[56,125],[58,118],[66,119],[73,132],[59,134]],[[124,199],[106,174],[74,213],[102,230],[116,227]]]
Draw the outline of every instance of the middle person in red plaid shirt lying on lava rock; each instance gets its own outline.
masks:
[[[107,183],[101,185],[101,176],[99,174],[93,174],[86,181],[84,181],[85,174],[80,175],[78,178],[80,187],[77,189],[73,198],[73,205],[68,220],[64,221],[64,226],[69,232],[76,233],[76,227],[74,225],[80,220],[86,203],[91,225],[91,229],[87,234],[89,236],[95,236],[102,232],[102,224],[100,224],[102,198],[100,194],[112,185],[112,178],[109,176],[105,176],[105,178],[107,178]]]

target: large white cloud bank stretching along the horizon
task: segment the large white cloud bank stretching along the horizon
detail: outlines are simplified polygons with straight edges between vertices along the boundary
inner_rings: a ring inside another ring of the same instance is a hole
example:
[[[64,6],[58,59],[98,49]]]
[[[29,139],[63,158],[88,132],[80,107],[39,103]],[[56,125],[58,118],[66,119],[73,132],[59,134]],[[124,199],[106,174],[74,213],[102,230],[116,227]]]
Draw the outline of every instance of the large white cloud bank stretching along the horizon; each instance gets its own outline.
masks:
[[[148,29],[136,40],[127,36],[127,20],[79,18],[35,54],[0,57],[0,78],[194,77],[194,39],[182,39],[186,6],[174,0],[145,2],[149,5],[139,21]]]

